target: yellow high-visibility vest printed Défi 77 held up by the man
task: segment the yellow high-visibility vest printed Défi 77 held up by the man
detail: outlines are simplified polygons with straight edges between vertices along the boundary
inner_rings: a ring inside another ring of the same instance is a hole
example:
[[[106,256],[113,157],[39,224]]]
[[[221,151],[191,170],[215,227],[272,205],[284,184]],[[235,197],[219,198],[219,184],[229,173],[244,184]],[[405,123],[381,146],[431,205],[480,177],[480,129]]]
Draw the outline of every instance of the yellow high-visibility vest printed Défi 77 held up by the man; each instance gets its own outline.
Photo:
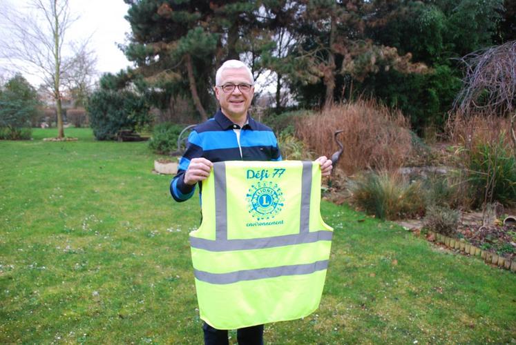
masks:
[[[305,317],[321,301],[333,229],[312,161],[225,161],[190,233],[200,317],[233,329]]]

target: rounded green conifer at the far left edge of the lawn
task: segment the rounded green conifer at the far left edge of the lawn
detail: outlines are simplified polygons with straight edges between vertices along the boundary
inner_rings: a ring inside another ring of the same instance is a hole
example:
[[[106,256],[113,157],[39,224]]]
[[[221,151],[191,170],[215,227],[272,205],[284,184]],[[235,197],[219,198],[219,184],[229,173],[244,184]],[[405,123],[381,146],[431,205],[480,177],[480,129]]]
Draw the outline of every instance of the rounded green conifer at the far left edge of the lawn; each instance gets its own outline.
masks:
[[[35,88],[18,73],[0,90],[0,127],[8,130],[8,137],[18,139],[19,130],[30,127],[38,106]]]

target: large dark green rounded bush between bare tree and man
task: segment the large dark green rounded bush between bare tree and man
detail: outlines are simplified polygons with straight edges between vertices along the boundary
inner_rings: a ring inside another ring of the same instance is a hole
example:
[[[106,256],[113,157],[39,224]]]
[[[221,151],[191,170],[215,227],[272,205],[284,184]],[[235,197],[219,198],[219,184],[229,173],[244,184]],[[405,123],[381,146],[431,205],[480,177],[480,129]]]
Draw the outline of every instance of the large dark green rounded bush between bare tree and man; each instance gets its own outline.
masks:
[[[135,130],[150,121],[144,97],[128,90],[97,90],[87,110],[97,140],[114,140],[120,130]]]

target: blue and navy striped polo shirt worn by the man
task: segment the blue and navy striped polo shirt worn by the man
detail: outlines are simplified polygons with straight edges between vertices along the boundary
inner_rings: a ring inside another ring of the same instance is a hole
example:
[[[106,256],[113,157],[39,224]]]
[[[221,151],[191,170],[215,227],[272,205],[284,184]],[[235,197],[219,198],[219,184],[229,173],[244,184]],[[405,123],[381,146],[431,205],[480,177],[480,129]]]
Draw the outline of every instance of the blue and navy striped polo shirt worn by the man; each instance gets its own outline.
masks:
[[[193,195],[195,185],[184,184],[184,173],[191,159],[198,157],[213,163],[281,160],[278,141],[271,128],[249,115],[247,123],[240,128],[219,109],[211,119],[195,126],[188,137],[187,150],[179,161],[178,175],[170,184],[170,193],[175,201],[185,201]]]

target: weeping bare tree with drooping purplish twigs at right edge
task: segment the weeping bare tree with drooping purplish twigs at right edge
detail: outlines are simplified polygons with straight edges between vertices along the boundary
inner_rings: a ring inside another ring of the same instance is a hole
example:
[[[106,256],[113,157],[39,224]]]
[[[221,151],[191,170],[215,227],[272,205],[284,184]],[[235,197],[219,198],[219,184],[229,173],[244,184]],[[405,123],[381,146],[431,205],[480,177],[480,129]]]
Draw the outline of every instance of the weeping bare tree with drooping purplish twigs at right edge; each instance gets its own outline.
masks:
[[[508,115],[516,149],[516,41],[472,52],[461,61],[466,66],[466,77],[455,108],[464,114],[484,110]]]

